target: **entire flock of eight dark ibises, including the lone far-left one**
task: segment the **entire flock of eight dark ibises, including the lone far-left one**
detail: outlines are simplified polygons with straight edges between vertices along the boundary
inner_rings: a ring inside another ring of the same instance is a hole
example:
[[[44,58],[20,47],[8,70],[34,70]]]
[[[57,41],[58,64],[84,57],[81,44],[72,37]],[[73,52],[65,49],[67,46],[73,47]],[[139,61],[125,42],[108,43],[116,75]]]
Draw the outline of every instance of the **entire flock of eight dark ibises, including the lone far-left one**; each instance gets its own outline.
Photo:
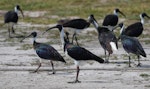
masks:
[[[8,11],[4,16],[4,23],[8,23],[9,37],[11,37],[11,33],[15,32],[13,25],[18,22],[18,11],[21,11],[23,15],[20,6],[16,5],[13,11]],[[137,66],[141,66],[140,56],[146,57],[146,53],[137,37],[139,37],[143,32],[144,18],[150,17],[146,13],[141,13],[141,21],[133,23],[125,28],[123,23],[118,23],[119,13],[126,17],[124,13],[122,13],[119,9],[115,9],[114,14],[109,14],[105,16],[102,25],[99,25],[94,15],[91,14],[88,17],[88,21],[81,18],[72,20],[59,20],[56,26],[50,27],[47,30],[45,30],[45,32],[43,32],[43,34],[45,34],[47,31],[54,28],[57,28],[59,30],[63,51],[67,56],[74,60],[75,65],[77,67],[76,79],[71,83],[80,82],[78,80],[78,75],[80,71],[79,62],[81,60],[94,60],[99,63],[109,63],[110,54],[112,54],[113,51],[118,50],[119,40],[121,40],[122,46],[128,54],[129,67],[131,67],[130,53],[137,55]],[[88,28],[90,24],[92,24],[98,32],[98,40],[101,47],[104,49],[105,59],[96,56],[89,50],[81,47],[78,43],[77,33]],[[66,27],[74,30],[71,42],[68,37],[69,33],[64,31]],[[118,27],[120,28],[120,35],[119,37],[116,37],[114,30]],[[61,61],[66,63],[64,58],[54,47],[52,47],[49,44],[36,42],[37,32],[32,32],[30,35],[24,37],[21,41],[28,37],[33,38],[33,48],[35,49],[37,55],[40,57],[39,66],[34,72],[37,72],[41,67],[41,59],[50,61],[52,65],[52,74],[55,74],[53,61]],[[76,44],[73,42],[74,40],[76,41]]]

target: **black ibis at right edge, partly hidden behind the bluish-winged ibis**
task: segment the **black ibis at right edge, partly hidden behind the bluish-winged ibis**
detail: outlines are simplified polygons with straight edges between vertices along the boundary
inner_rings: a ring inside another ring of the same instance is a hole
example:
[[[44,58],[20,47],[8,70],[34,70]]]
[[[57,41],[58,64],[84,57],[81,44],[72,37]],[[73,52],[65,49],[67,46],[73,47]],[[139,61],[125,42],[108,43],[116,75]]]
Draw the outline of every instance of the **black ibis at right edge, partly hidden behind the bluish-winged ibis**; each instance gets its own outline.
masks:
[[[146,13],[141,13],[140,18],[141,22],[136,22],[129,25],[126,29],[124,34],[131,36],[131,37],[139,37],[143,32],[143,25],[144,25],[144,17],[150,18]]]

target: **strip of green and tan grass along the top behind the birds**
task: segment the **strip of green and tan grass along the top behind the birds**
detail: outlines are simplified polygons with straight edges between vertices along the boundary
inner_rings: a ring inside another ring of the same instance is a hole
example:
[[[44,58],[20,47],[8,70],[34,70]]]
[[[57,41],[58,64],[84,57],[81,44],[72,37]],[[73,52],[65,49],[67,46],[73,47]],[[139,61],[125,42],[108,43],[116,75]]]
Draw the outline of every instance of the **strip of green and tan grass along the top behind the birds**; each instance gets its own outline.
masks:
[[[0,0],[0,10],[11,10],[20,4],[24,11],[47,11],[42,17],[26,17],[24,21],[50,24],[62,17],[78,16],[86,19],[90,14],[102,19],[112,13],[114,8],[120,8],[127,19],[138,19],[139,13],[150,13],[149,3],[149,0]],[[51,18],[51,15],[60,18]]]

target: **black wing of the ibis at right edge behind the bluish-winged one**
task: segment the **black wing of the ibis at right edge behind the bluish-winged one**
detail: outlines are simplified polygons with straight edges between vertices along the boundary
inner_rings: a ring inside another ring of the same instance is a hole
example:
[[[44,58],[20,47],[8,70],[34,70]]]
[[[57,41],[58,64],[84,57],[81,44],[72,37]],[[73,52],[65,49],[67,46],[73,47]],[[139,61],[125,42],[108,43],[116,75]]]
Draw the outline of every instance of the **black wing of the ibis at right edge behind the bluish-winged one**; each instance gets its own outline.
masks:
[[[141,22],[131,24],[125,29],[125,34],[132,37],[138,37],[142,34],[142,32],[143,25]]]

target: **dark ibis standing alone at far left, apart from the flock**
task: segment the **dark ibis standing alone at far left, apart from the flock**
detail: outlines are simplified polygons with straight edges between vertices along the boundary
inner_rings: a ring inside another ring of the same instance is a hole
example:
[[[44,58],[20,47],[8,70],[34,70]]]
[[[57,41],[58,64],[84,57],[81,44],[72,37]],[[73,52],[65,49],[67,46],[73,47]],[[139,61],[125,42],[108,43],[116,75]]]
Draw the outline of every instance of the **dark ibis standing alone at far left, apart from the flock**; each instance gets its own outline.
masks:
[[[22,16],[24,17],[23,12],[19,5],[16,5],[13,11],[8,11],[4,15],[4,23],[8,23],[9,37],[11,37],[10,31],[12,31],[12,33],[15,33],[13,26],[18,22],[18,11],[20,11]]]

